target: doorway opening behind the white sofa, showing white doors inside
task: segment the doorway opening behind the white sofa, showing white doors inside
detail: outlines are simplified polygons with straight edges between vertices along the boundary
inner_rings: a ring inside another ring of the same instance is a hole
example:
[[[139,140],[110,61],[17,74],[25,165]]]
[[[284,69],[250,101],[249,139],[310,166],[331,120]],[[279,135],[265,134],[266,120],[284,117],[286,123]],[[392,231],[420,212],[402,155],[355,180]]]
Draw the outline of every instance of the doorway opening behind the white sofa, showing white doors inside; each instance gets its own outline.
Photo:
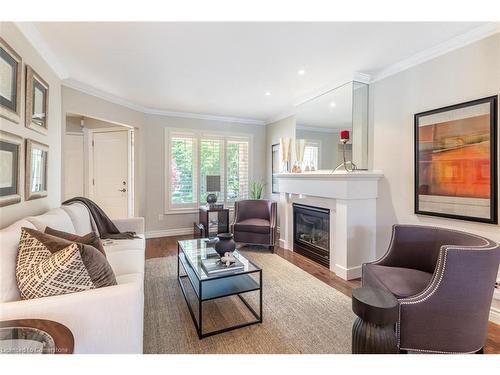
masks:
[[[67,114],[63,200],[82,196],[112,219],[134,216],[134,128]]]

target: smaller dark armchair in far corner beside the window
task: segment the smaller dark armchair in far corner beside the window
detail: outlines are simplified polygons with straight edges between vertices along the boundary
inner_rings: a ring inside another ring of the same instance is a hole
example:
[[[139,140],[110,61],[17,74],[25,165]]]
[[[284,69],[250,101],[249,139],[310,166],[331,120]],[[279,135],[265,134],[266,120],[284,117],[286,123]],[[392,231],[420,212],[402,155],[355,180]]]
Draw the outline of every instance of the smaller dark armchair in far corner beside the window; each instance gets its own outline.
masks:
[[[236,242],[269,246],[276,241],[276,202],[267,199],[241,200],[234,204],[231,233]]]

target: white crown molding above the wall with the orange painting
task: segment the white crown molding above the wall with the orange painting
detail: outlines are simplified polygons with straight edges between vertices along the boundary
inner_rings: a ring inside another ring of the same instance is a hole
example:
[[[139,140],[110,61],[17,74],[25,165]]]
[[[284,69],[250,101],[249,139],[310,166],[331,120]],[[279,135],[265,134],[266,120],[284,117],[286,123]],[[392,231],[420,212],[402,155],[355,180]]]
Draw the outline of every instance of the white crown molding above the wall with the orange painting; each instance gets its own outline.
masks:
[[[401,60],[377,73],[370,83],[380,81],[384,78],[410,69],[416,65],[432,60],[438,56],[448,52],[465,47],[468,44],[477,42],[478,40],[487,38],[493,34],[500,32],[500,22],[489,22],[485,25],[476,27],[464,34],[458,35],[444,43],[438,44],[432,48],[421,51],[407,59]]]

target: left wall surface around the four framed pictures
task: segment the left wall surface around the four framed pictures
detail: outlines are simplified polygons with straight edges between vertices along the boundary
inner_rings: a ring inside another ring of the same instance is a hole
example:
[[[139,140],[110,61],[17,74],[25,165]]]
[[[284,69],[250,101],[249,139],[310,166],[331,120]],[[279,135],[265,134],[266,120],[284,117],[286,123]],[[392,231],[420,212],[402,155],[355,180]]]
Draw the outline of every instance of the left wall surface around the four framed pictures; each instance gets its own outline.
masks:
[[[40,214],[59,206],[61,202],[61,82],[42,56],[31,46],[13,23],[0,23],[0,36],[23,59],[21,84],[21,122],[15,124],[0,118],[0,129],[49,145],[48,195],[31,201],[24,200],[24,158],[20,171],[20,203],[0,208],[0,228],[29,215]],[[26,65],[49,84],[48,134],[42,135],[24,126]]]

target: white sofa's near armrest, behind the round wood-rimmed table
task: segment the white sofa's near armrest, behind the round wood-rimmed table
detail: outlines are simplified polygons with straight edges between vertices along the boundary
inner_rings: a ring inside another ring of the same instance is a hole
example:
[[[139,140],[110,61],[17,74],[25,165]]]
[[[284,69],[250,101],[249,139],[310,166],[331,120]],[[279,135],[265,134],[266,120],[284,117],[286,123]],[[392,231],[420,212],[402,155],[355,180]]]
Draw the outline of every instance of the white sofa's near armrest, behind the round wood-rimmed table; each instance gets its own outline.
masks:
[[[0,304],[0,320],[49,319],[73,333],[75,353],[141,353],[144,288],[141,275],[123,284]]]

